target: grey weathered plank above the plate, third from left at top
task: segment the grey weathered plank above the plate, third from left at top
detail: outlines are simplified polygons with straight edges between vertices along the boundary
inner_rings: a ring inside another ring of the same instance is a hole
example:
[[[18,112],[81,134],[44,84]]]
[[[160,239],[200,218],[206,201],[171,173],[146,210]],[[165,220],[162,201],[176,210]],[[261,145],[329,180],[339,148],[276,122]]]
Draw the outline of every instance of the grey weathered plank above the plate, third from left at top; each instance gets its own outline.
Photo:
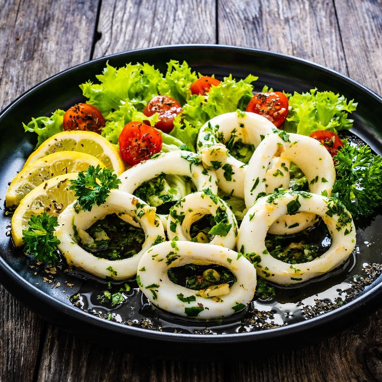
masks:
[[[220,0],[219,44],[290,54],[347,74],[332,1]]]

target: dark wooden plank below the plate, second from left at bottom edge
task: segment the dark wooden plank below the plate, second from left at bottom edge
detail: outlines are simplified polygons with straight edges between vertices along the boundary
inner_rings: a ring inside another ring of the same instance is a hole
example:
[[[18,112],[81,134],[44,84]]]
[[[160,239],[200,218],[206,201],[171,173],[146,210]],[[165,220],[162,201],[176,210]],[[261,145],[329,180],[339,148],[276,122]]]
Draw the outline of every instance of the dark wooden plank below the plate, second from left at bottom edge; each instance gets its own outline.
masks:
[[[98,345],[52,328],[42,354],[39,381],[223,382],[223,363],[157,361]]]

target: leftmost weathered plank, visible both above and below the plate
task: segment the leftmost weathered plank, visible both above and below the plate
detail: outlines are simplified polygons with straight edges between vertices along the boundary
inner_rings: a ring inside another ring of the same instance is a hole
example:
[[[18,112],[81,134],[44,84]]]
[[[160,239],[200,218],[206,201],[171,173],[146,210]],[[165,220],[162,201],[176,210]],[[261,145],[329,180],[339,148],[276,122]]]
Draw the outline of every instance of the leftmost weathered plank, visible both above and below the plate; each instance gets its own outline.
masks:
[[[0,110],[41,80],[90,58],[97,4],[0,1]],[[2,286],[0,307],[0,380],[32,380],[44,323]]]

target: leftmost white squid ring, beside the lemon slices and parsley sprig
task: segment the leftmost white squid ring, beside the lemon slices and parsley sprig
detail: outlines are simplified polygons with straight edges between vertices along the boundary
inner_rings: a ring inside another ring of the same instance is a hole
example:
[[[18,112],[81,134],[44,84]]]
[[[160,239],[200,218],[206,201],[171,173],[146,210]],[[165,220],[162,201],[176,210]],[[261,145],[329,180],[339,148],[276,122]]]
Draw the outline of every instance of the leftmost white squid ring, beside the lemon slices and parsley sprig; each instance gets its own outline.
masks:
[[[74,209],[70,204],[59,215],[59,226],[56,235],[61,243],[59,250],[65,256],[69,265],[84,269],[100,278],[125,280],[137,274],[138,263],[143,255],[155,242],[165,240],[165,230],[160,222],[155,208],[142,200],[119,190],[112,190],[106,202],[93,206],[91,211]],[[116,213],[122,220],[130,223],[131,219],[139,224],[145,232],[146,240],[142,250],[122,260],[107,260],[98,258],[80,247],[76,242],[75,230],[86,231],[106,215]]]

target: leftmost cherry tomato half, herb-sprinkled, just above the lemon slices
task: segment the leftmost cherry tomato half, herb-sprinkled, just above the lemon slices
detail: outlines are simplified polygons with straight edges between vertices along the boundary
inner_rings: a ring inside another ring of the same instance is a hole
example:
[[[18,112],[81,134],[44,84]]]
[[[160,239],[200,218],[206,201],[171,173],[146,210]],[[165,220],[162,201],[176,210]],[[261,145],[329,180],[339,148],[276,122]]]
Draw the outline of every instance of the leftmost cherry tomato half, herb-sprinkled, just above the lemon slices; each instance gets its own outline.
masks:
[[[101,112],[88,103],[77,103],[64,114],[64,130],[87,130],[100,134],[104,126]]]

